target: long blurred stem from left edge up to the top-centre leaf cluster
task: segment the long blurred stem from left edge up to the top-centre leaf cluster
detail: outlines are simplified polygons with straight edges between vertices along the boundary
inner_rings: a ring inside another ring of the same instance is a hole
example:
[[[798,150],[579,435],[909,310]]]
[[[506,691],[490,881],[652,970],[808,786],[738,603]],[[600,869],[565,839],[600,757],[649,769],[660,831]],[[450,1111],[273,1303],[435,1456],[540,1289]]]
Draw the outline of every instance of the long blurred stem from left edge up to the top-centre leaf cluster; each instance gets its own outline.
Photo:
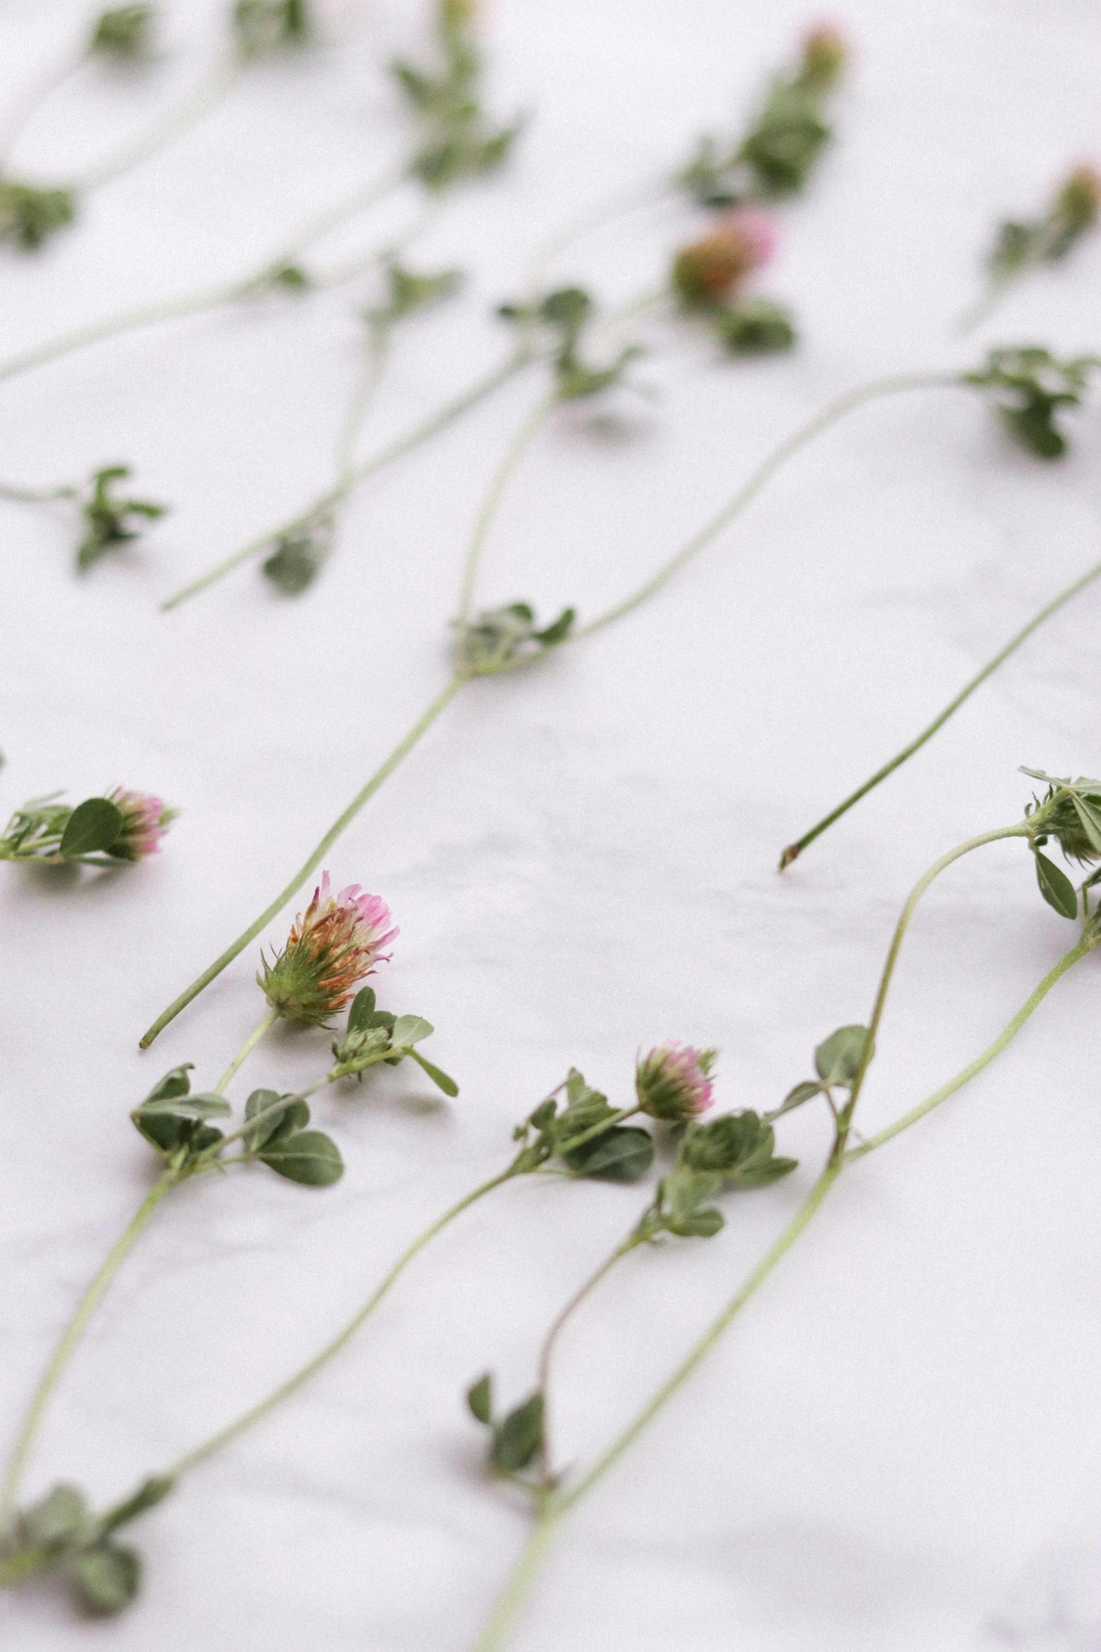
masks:
[[[249,271],[246,276],[236,281],[221,281],[210,287],[200,287],[195,292],[185,292],[172,299],[162,299],[157,304],[139,304],[132,309],[119,311],[114,316],[104,316],[99,320],[87,322],[83,327],[74,327],[71,332],[59,334],[56,339],[48,339],[45,344],[36,344],[30,350],[21,350],[17,355],[10,355],[7,362],[0,362],[0,380],[17,378],[20,373],[26,373],[35,367],[43,367],[46,362],[56,362],[63,355],[71,355],[76,350],[84,350],[92,344],[102,344],[107,339],[117,339],[127,332],[137,332],[142,327],[152,327],[163,320],[177,320],[185,316],[196,316],[203,311],[221,309],[223,306],[236,304],[241,299],[254,294],[271,276],[274,269],[281,269],[297,258],[302,251],[319,241],[337,225],[347,223],[355,218],[360,211],[365,211],[376,200],[381,200],[391,188],[395,188],[404,177],[404,169],[388,170],[381,178],[375,178],[366,185],[353,190],[348,195],[342,195],[332,206],[325,211],[317,213],[314,218],[307,220],[299,231],[281,246],[271,258]],[[385,251],[380,253],[385,256]]]

